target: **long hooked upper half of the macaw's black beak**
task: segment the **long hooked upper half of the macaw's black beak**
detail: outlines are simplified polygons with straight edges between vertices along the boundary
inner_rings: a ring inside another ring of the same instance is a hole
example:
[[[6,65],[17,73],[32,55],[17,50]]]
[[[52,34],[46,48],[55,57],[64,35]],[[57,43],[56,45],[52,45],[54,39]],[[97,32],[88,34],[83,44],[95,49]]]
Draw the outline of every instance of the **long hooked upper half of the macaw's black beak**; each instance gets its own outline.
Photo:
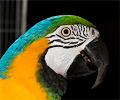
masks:
[[[108,68],[108,50],[104,41],[100,38],[93,40],[85,47],[85,53],[92,64],[98,68],[97,79],[92,88],[97,87],[103,80]]]

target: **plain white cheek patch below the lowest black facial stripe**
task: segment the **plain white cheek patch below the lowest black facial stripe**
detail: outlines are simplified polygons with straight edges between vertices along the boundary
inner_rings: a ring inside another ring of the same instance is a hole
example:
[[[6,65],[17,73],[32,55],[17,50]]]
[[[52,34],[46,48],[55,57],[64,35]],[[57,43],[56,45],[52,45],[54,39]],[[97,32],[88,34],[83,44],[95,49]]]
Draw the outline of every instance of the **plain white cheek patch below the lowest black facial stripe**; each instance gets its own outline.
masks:
[[[45,61],[57,74],[66,77],[70,65],[79,53],[80,51],[75,48],[54,47],[48,50]]]

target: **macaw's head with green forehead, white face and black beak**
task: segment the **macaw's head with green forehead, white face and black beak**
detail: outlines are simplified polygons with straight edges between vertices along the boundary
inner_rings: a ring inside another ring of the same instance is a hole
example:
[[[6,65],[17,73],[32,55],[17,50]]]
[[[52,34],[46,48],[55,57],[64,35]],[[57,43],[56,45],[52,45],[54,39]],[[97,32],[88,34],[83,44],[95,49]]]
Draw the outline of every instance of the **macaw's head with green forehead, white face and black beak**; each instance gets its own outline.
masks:
[[[58,17],[58,16],[57,16]],[[108,65],[108,51],[100,33],[92,23],[78,16],[59,16],[54,32],[46,35],[50,46],[44,56],[47,66],[66,79],[76,79],[95,72],[98,76],[92,88],[101,83]]]

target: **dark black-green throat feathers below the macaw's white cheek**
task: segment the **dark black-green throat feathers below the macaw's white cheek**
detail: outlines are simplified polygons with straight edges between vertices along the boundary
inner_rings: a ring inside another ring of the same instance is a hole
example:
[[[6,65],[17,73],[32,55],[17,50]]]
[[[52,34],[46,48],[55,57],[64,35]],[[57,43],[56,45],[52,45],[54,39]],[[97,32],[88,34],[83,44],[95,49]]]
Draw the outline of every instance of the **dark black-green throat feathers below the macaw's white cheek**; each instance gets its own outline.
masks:
[[[44,56],[39,59],[39,63],[42,64],[43,69],[37,71],[37,81],[46,88],[51,100],[60,100],[60,97],[67,89],[66,79],[63,76],[56,74],[49,66],[47,66]]]

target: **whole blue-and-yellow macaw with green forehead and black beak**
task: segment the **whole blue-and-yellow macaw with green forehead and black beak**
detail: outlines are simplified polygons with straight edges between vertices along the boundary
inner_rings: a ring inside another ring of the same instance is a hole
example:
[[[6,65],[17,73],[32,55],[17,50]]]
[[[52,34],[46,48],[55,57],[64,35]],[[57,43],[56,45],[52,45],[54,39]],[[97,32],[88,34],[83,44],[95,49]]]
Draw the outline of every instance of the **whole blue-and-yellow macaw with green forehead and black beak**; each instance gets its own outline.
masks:
[[[105,76],[108,50],[96,26],[75,15],[35,24],[0,59],[0,100],[61,100],[67,80]],[[97,70],[93,70],[97,68]]]

